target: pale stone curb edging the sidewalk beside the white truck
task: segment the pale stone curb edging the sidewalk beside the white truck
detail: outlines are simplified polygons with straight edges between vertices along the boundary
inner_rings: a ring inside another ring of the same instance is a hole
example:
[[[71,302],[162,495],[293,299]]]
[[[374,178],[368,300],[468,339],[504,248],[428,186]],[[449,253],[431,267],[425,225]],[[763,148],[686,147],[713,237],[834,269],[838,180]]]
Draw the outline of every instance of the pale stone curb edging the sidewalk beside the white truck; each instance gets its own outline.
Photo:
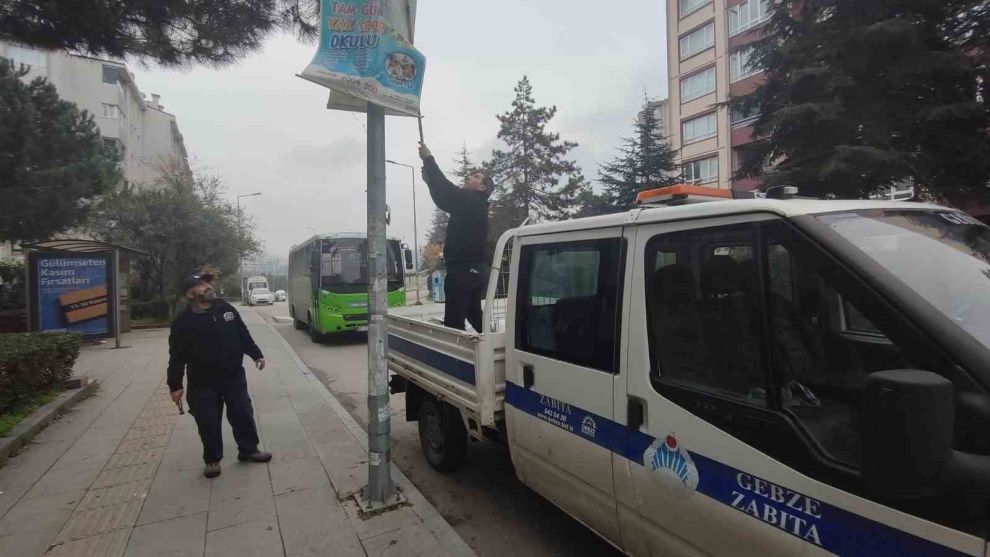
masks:
[[[306,364],[299,358],[296,354],[292,345],[289,341],[285,340],[278,329],[275,328],[270,321],[262,318],[265,326],[271,329],[272,334],[278,338],[279,342],[282,343],[282,347],[289,353],[292,363],[296,365],[299,371],[303,374],[306,379],[314,384],[314,388],[323,400],[327,402],[330,409],[333,410],[334,414],[344,423],[344,426],[351,433],[351,435],[357,439],[358,444],[365,452],[368,452],[368,433],[361,428],[360,425],[344,408],[344,405],[337,400],[333,394],[326,388],[326,386],[320,382],[319,378],[313,375]],[[437,539],[441,546],[443,546],[448,554],[458,556],[458,557],[475,557],[474,550],[472,550],[468,544],[461,538],[461,536],[454,530],[454,528],[440,515],[439,512],[433,507],[433,505],[426,500],[426,497],[416,489],[416,486],[409,481],[409,478],[402,473],[402,470],[392,463],[392,477],[395,480],[395,484],[399,486],[402,490],[402,494],[406,497],[406,500],[412,505],[413,512],[416,516],[423,521],[430,533]]]

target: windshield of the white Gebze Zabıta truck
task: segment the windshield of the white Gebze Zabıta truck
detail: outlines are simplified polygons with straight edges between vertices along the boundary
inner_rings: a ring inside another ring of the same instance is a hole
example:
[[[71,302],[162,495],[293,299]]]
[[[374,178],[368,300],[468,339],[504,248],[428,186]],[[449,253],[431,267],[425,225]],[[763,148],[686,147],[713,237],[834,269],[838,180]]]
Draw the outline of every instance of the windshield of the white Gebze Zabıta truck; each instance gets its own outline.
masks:
[[[870,209],[818,215],[990,348],[990,228],[954,211]]]

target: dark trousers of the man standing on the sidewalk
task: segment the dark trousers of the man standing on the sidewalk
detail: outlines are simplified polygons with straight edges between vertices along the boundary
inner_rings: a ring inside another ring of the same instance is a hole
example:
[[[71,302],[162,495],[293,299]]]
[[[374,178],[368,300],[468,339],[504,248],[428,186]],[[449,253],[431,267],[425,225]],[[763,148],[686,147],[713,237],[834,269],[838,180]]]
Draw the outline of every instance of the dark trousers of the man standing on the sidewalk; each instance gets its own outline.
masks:
[[[215,385],[190,387],[186,395],[189,412],[196,418],[199,437],[203,441],[203,461],[223,460],[223,408],[234,430],[237,452],[250,455],[258,452],[258,429],[254,423],[254,407],[248,395],[244,369],[232,373]]]

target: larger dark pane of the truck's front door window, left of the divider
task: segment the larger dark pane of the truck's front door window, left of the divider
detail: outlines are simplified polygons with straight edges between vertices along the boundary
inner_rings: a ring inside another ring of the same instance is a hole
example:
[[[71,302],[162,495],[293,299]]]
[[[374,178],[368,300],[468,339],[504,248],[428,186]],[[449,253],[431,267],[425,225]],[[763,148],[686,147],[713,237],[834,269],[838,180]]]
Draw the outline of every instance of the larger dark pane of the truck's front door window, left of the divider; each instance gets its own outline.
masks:
[[[758,406],[766,400],[754,228],[691,230],[647,246],[655,378]]]

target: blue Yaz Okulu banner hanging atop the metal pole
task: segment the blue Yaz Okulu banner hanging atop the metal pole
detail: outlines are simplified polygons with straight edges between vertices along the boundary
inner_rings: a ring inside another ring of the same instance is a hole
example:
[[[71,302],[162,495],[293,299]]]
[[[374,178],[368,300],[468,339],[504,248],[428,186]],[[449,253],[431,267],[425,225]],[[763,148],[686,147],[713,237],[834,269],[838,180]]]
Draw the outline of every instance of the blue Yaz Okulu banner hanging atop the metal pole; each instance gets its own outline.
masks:
[[[320,0],[320,44],[299,77],[331,90],[327,108],[416,116],[426,58],[412,45],[415,0]]]

